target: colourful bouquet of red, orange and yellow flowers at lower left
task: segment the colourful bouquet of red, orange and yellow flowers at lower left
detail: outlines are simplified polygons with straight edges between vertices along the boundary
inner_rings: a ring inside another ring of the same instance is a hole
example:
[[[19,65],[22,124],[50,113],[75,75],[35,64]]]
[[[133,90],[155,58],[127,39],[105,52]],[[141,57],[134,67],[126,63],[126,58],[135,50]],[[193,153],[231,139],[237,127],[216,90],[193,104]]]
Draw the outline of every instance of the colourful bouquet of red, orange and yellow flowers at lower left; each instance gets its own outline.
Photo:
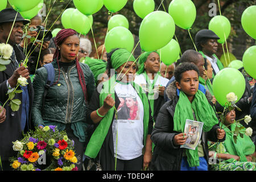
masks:
[[[10,166],[18,171],[77,171],[75,142],[56,126],[45,126],[23,134],[22,140],[13,142],[18,155],[10,158]],[[50,162],[49,165],[46,164]]]

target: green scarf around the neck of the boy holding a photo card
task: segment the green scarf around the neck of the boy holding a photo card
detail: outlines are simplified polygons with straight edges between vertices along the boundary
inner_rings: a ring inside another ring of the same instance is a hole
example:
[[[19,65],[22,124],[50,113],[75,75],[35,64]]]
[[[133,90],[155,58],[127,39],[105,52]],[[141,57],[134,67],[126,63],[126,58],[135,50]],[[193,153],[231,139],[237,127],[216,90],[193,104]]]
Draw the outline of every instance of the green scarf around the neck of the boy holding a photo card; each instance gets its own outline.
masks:
[[[204,123],[203,131],[210,131],[218,123],[216,114],[203,92],[198,90],[191,103],[187,95],[180,90],[179,101],[177,102],[174,113],[174,131],[184,132],[186,119],[195,120],[192,109],[195,112],[197,121]],[[199,166],[197,148],[195,150],[186,149],[185,151],[190,167]]]

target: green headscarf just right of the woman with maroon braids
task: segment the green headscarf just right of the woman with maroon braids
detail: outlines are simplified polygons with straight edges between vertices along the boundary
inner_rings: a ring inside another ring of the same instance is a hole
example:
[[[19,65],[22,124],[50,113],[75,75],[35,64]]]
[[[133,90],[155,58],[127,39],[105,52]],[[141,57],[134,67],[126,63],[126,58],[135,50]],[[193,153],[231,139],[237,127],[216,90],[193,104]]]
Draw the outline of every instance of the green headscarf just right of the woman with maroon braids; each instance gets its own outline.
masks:
[[[90,59],[89,57],[86,57],[84,63],[87,64],[93,72],[94,81],[97,83],[98,75],[105,73],[107,63],[104,60]]]

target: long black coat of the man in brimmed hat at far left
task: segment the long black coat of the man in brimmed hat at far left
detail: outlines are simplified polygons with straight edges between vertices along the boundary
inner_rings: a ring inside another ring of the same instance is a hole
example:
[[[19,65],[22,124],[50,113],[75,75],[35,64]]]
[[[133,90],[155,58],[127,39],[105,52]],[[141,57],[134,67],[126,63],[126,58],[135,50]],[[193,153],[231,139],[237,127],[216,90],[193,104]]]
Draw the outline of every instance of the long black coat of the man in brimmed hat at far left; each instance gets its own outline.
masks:
[[[14,51],[16,55],[16,59],[18,60],[18,63],[20,63],[21,60],[24,60],[24,54],[17,46],[14,46]],[[9,65],[6,65],[5,71],[0,72],[0,102],[5,103],[8,99],[8,96],[6,96],[7,93],[7,80],[13,75],[15,71],[15,66],[13,61]],[[34,97],[34,89],[31,84],[30,78],[28,78],[28,92],[30,96],[30,112],[31,115],[31,105]],[[18,88],[19,89],[19,88]],[[14,98],[18,98],[20,101],[22,101],[22,93],[15,94]],[[9,101],[10,102],[10,101]],[[22,104],[19,107],[18,111],[11,110],[11,107],[9,106],[9,102],[5,105],[6,109],[6,119],[4,122],[0,123],[0,156],[2,160],[8,160],[11,156],[16,155],[15,151],[13,151],[13,143],[16,140],[19,140],[22,137],[22,129],[20,127],[20,118],[22,114]],[[29,117],[28,121],[28,127],[26,129],[31,129],[31,117]],[[24,131],[26,132],[26,131]]]

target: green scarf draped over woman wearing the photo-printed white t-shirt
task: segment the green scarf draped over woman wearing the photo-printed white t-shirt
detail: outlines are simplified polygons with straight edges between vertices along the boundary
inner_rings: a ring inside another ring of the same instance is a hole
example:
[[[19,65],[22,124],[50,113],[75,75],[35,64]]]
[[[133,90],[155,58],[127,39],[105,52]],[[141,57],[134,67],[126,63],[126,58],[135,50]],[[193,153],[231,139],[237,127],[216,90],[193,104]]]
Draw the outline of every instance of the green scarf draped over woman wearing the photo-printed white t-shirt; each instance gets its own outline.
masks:
[[[104,100],[109,93],[112,94],[112,98],[115,100],[114,96],[114,84],[115,84],[115,76],[112,76],[108,81],[104,82],[103,88],[100,93],[100,107],[104,104]],[[146,146],[146,138],[148,134],[148,119],[149,119],[149,105],[147,101],[147,96],[143,92],[141,86],[135,84],[135,82],[131,82],[134,89],[138,93],[139,98],[141,98],[144,109],[144,117],[143,117],[143,130],[144,130],[144,146]],[[110,90],[112,89],[112,90]],[[85,155],[90,158],[96,158],[98,152],[101,149],[101,146],[105,140],[106,135],[108,134],[109,127],[112,123],[114,115],[114,107],[112,107],[104,118],[100,121],[100,124],[97,126],[96,130],[92,134],[92,137],[89,140],[89,143],[86,147]]]

